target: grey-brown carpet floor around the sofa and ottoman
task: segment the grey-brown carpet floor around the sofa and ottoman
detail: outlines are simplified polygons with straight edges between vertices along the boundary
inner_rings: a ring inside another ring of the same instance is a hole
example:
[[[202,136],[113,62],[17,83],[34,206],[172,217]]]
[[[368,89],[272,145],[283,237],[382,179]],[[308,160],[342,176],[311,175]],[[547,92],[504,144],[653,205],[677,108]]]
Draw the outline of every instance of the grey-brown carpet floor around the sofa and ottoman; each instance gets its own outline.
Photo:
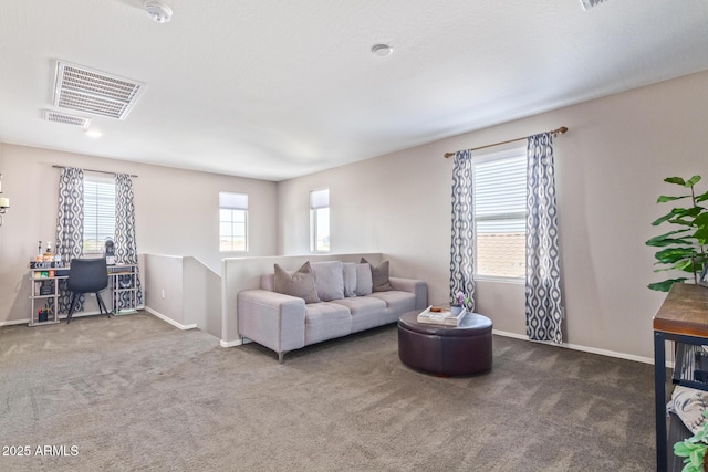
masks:
[[[655,469],[652,366],[496,336],[490,373],[441,378],[396,336],[280,365],[145,313],[2,327],[0,470]]]

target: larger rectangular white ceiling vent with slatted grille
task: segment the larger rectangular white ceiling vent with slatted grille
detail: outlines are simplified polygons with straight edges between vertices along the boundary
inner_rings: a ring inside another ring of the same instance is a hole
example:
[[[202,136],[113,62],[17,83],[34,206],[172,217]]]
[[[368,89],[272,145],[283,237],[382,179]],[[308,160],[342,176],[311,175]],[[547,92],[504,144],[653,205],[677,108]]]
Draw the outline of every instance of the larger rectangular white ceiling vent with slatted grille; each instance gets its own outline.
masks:
[[[125,119],[145,84],[66,62],[56,62],[54,106]]]

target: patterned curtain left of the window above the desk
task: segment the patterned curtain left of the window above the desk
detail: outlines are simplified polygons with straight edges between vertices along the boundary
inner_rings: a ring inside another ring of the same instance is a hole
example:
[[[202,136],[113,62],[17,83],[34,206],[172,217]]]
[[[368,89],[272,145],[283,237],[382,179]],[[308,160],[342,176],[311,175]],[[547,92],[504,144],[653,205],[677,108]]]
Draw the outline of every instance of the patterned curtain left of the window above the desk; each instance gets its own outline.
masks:
[[[56,217],[56,254],[67,264],[81,258],[84,243],[84,171],[64,167],[59,177],[59,214]],[[71,303],[66,280],[59,283],[59,313],[69,313]],[[79,297],[76,312],[83,311],[84,296]]]

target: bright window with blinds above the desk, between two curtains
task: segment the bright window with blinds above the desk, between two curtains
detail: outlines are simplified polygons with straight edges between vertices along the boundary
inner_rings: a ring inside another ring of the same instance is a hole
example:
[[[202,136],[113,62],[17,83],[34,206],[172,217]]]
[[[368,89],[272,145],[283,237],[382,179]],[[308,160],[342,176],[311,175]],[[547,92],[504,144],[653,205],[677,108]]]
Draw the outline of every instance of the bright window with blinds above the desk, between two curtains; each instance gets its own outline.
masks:
[[[115,234],[115,178],[84,174],[84,254],[103,252]]]

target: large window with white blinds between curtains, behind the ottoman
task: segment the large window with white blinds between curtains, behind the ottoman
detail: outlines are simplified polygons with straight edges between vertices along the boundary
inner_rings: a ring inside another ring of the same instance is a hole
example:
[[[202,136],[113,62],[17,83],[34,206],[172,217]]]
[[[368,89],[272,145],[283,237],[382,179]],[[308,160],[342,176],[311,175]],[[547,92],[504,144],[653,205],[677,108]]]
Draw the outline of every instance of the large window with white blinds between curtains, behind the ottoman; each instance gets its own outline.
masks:
[[[525,275],[525,148],[475,158],[475,275]]]

